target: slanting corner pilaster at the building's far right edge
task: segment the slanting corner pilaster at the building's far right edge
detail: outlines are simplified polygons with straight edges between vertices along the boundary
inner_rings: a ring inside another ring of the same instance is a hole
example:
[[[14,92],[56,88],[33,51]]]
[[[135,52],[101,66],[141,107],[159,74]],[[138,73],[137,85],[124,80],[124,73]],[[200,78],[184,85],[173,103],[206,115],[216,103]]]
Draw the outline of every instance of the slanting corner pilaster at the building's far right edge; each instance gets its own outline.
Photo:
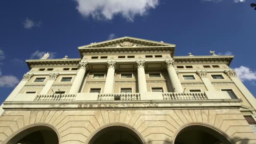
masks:
[[[241,80],[237,77],[235,70],[225,70],[224,73],[229,76],[229,78],[235,83],[235,85],[241,91],[241,93],[243,93],[245,99],[247,99],[247,101],[250,102],[252,107],[256,109],[256,99],[251,94],[251,92],[245,87],[245,85],[241,82]]]

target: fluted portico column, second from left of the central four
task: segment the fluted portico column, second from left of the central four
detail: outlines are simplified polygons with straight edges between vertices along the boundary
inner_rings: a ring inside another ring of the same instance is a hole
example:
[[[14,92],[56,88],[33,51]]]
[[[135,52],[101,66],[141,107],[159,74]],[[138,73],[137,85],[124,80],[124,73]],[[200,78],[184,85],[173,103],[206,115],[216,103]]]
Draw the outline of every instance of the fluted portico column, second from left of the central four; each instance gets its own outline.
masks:
[[[113,93],[116,61],[107,61],[107,65],[108,65],[108,69],[107,69],[106,83],[104,86],[104,93]]]

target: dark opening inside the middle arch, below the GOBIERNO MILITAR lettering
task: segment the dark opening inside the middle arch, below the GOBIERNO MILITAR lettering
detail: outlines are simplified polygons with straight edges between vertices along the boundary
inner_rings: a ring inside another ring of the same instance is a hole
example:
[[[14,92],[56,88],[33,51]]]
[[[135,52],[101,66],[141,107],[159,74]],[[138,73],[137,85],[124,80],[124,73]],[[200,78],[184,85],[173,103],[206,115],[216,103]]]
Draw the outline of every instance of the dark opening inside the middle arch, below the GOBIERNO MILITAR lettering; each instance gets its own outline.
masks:
[[[109,126],[96,133],[89,144],[143,144],[139,136],[123,126]]]

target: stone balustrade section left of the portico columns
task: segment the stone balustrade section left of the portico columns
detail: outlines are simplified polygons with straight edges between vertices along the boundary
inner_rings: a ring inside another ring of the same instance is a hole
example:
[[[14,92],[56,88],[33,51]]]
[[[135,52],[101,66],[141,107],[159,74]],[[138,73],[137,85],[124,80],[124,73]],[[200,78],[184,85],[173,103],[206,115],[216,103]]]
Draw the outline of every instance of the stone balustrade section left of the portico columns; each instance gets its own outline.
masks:
[[[43,94],[37,95],[35,101],[74,101],[75,97],[75,94]]]

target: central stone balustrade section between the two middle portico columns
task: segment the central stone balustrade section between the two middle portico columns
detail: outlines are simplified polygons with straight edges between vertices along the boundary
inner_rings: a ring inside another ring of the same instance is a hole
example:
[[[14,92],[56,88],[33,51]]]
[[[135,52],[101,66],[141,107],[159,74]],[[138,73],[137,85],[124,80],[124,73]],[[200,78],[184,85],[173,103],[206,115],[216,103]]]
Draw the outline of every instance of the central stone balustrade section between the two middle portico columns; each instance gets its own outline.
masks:
[[[133,101],[140,100],[140,93],[109,93],[109,94],[99,94],[99,101]]]

